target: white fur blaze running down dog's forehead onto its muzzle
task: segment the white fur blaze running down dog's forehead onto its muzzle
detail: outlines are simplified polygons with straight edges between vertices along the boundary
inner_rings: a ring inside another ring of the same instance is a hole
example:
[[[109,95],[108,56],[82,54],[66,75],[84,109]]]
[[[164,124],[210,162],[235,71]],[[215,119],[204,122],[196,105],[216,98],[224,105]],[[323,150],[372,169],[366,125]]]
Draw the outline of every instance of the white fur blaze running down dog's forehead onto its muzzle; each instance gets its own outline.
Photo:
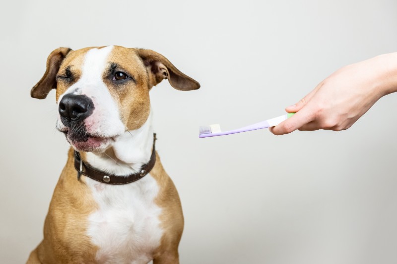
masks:
[[[70,93],[88,96],[95,109],[85,119],[84,125],[87,133],[95,137],[111,138],[125,132],[125,126],[120,119],[119,107],[103,82],[103,74],[109,66],[108,62],[111,59],[109,55],[113,48],[113,46],[109,46],[89,50],[85,54],[80,79],[70,86],[58,101],[61,102],[62,97]],[[57,127],[61,129],[63,127],[60,117]]]

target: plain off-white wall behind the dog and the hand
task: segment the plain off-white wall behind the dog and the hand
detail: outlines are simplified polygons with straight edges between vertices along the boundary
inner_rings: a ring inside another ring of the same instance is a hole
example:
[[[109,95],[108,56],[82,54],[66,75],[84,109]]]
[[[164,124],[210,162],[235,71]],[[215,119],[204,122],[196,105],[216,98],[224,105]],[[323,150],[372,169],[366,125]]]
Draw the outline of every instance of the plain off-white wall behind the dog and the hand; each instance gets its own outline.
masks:
[[[397,51],[395,0],[7,1],[0,10],[0,263],[42,239],[68,145],[55,93],[30,98],[58,47],[155,50],[201,84],[151,91],[157,149],[185,215],[184,264],[397,263],[397,95],[347,131],[199,139],[284,113],[339,67]]]

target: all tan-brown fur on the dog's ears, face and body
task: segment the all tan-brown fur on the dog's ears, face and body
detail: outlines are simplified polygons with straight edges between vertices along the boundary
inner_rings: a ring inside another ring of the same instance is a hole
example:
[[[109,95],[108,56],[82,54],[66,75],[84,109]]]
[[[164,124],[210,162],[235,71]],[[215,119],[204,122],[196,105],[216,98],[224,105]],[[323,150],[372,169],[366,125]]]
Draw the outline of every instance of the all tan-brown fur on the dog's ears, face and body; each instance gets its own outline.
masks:
[[[31,95],[43,99],[56,85],[56,101],[68,87],[81,76],[83,55],[92,48],[71,51],[60,48],[51,53],[47,60],[47,71],[33,87]],[[104,82],[120,108],[121,120],[128,130],[137,129],[147,120],[150,113],[150,89],[168,78],[178,90],[199,89],[199,83],[180,72],[171,62],[159,53],[142,49],[115,47],[109,55],[109,63],[117,63],[122,70],[131,74],[135,82],[114,87],[107,76]],[[74,79],[70,82],[55,80],[57,74],[65,74],[66,67]],[[49,85],[50,84],[50,85]],[[112,150],[109,155],[114,156]],[[156,163],[150,174],[157,181],[159,193],[155,200],[162,209],[161,227],[164,230],[160,246],[153,252],[154,264],[179,263],[178,245],[182,236],[184,219],[178,192],[165,172],[156,154]],[[82,153],[85,159],[85,153]],[[28,264],[74,264],[96,263],[98,250],[86,235],[87,217],[97,209],[97,204],[85,177],[76,179],[73,150],[70,148],[66,166],[62,171],[44,224],[44,239],[30,254]]]

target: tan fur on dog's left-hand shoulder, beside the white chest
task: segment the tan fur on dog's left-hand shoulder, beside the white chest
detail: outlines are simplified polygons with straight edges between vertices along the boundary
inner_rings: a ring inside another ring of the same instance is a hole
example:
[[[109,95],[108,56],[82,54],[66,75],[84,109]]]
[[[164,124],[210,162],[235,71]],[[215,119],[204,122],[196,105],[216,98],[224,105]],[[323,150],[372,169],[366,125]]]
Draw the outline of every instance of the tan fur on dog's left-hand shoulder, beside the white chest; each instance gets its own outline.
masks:
[[[96,203],[84,177],[77,181],[73,162],[70,149],[44,223],[44,239],[31,254],[40,263],[95,263],[97,248],[86,235],[86,225]]]

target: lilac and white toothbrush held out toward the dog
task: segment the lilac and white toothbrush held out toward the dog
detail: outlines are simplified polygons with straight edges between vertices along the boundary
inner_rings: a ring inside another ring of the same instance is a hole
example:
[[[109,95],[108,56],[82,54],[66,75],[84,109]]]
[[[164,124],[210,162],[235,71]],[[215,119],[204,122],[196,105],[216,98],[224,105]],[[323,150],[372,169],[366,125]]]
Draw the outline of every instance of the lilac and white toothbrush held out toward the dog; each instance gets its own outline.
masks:
[[[294,113],[287,113],[278,117],[274,117],[253,125],[245,126],[242,128],[224,131],[220,130],[219,124],[209,125],[209,126],[200,126],[199,138],[207,138],[207,137],[216,137],[216,136],[223,136],[223,135],[230,135],[240,132],[246,132],[251,130],[257,130],[262,128],[268,128],[272,126],[276,126],[282,121],[286,120],[287,118],[291,117]]]

